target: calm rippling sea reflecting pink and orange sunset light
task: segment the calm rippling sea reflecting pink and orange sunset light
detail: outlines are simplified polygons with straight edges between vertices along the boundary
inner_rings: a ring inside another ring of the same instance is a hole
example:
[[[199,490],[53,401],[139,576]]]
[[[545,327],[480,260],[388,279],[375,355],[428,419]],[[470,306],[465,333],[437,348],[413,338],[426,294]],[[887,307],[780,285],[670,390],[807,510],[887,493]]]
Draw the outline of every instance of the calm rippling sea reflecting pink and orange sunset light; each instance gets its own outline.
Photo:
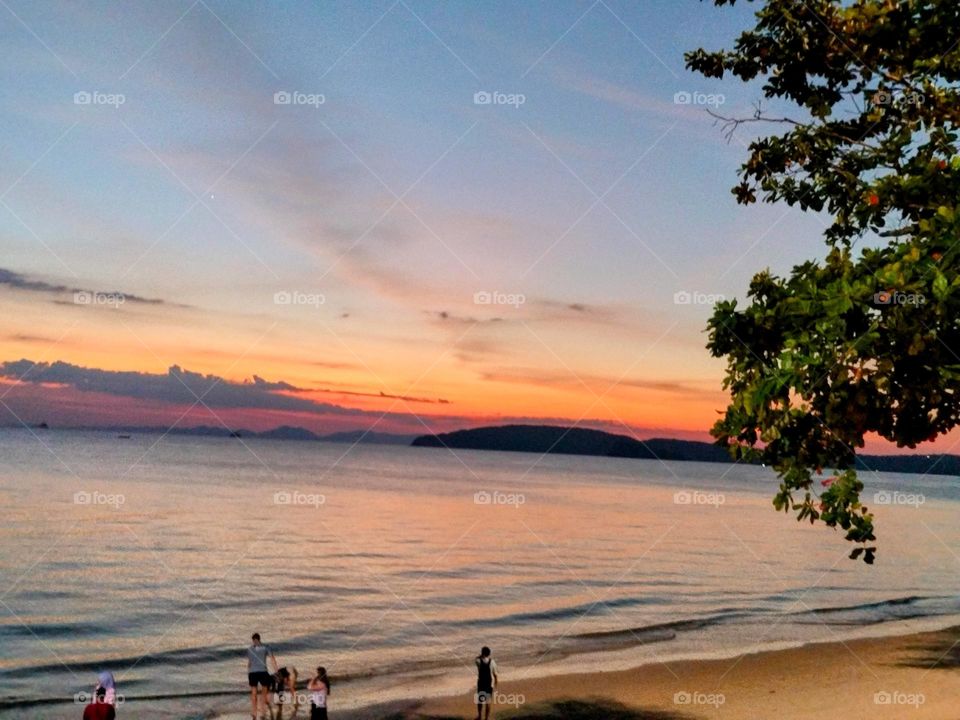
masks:
[[[244,712],[254,631],[349,708],[466,690],[482,644],[519,678],[960,622],[957,478],[866,478],[867,567],[756,467],[39,438],[0,431],[0,718],[101,669],[123,718]]]

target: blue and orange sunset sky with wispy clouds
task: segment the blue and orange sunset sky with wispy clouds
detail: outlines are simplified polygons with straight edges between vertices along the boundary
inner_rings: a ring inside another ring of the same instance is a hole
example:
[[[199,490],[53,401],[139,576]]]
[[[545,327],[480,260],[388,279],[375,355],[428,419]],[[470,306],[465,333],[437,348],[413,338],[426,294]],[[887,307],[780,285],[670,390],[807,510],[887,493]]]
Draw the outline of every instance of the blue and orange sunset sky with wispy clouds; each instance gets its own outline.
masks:
[[[823,255],[683,67],[749,4],[2,5],[2,425],[707,439],[712,301]]]

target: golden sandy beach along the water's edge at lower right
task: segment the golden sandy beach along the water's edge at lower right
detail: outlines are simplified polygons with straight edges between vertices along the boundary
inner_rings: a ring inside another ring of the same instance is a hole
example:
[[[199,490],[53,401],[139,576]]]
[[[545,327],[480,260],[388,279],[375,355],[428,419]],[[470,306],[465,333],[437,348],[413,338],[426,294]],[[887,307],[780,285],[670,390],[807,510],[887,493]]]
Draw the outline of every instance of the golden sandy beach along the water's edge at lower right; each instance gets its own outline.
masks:
[[[498,708],[495,716],[956,720],[960,717],[960,644],[955,643],[960,643],[960,628],[620,672],[528,681],[505,677],[499,691],[507,699],[523,696],[524,703],[516,709]],[[471,718],[475,713],[470,703],[467,694],[440,698],[392,717]]]

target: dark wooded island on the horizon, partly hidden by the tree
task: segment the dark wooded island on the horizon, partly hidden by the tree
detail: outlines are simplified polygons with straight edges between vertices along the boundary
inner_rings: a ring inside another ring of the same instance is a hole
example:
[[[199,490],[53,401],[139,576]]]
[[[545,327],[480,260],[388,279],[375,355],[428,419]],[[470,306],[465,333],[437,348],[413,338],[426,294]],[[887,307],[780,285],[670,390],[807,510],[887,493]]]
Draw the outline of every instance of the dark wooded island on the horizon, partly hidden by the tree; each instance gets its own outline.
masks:
[[[459,450],[596,455],[643,460],[731,463],[727,451],[713,443],[651,438],[637,440],[602,430],[559,425],[501,425],[437,435],[421,435],[415,447]],[[957,455],[858,455],[857,468],[878,472],[960,475]],[[932,468],[932,469],[931,469]]]

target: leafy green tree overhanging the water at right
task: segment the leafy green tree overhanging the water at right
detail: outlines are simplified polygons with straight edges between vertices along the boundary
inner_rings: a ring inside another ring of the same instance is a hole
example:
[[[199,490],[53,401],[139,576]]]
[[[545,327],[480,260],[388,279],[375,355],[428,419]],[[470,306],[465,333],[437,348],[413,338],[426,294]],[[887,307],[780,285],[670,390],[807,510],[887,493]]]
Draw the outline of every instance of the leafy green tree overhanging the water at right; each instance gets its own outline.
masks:
[[[722,118],[776,131],[750,143],[733,193],[832,223],[823,260],[759,272],[744,307],[714,308],[731,398],[712,433],[774,467],[778,510],[842,528],[872,563],[856,449],[870,433],[913,448],[960,418],[960,3],[768,0],[755,18],[732,50],[685,56],[799,114]]]

